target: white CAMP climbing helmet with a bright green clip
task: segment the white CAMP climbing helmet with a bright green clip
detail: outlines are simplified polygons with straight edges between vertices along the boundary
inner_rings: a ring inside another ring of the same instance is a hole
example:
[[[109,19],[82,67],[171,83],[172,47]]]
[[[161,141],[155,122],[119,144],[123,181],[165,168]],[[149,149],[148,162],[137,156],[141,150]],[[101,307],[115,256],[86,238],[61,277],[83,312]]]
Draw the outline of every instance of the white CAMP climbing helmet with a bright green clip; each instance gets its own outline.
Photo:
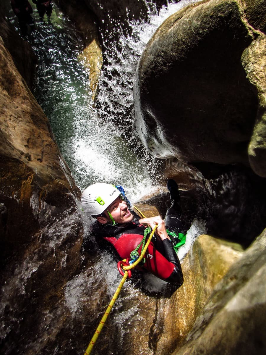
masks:
[[[120,191],[111,184],[98,182],[90,185],[81,194],[81,205],[91,216],[98,215],[120,195]]]

